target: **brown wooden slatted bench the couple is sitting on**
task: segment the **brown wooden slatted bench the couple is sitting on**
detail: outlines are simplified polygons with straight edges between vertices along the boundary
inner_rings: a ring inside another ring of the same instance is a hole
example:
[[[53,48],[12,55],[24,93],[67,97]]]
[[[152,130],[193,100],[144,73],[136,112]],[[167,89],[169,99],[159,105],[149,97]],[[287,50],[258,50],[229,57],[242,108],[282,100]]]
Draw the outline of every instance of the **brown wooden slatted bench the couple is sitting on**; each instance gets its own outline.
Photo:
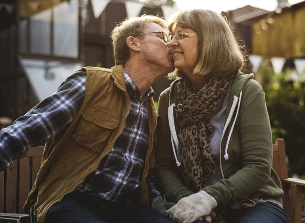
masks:
[[[12,167],[0,172],[0,212],[23,213],[23,204],[40,168],[43,149],[43,146],[29,149],[21,160],[15,161]],[[272,165],[282,181],[283,208],[291,223],[305,221],[301,219],[305,180],[288,178],[283,139],[277,139],[273,145]]]

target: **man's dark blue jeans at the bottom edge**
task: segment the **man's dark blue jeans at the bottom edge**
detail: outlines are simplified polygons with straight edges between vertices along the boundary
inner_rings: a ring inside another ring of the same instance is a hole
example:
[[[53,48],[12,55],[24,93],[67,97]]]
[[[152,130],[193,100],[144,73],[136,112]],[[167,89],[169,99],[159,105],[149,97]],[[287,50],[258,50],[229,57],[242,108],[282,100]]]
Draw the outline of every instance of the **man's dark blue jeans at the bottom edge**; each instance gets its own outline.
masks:
[[[133,202],[110,203],[84,193],[71,193],[54,204],[46,223],[172,223],[176,222],[150,207]]]

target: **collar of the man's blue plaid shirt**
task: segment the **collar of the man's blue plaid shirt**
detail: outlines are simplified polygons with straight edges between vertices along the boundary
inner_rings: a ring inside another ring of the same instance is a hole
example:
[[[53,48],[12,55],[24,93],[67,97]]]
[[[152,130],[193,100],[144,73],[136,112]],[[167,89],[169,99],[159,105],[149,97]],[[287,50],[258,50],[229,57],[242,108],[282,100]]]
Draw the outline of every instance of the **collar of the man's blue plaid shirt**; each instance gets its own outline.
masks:
[[[126,90],[130,98],[135,98],[138,101],[146,101],[149,98],[155,95],[155,91],[153,88],[149,87],[149,89],[145,92],[144,97],[142,98],[141,91],[136,85],[136,83],[130,78],[130,76],[124,71]]]

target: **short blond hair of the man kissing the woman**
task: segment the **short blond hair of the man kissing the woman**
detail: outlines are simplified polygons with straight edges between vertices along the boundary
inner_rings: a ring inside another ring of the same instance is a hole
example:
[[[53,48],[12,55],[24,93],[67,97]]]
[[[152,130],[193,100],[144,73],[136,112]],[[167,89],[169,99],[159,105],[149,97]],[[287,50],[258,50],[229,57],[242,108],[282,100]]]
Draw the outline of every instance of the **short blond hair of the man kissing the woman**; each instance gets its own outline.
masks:
[[[139,36],[143,27],[149,23],[157,23],[162,28],[167,29],[165,20],[152,15],[127,18],[116,25],[111,33],[115,65],[124,65],[130,57],[130,50],[126,44],[127,38]]]

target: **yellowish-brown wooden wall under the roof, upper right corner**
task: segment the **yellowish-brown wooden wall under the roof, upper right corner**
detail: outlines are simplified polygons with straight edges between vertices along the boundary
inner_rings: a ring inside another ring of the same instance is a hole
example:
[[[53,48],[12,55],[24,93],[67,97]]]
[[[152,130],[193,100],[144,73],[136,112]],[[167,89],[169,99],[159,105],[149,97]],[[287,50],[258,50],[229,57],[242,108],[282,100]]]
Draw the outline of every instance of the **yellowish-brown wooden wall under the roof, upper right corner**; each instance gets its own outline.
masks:
[[[253,25],[252,53],[266,57],[305,57],[305,2],[286,8],[272,16],[273,24],[256,33]]]

